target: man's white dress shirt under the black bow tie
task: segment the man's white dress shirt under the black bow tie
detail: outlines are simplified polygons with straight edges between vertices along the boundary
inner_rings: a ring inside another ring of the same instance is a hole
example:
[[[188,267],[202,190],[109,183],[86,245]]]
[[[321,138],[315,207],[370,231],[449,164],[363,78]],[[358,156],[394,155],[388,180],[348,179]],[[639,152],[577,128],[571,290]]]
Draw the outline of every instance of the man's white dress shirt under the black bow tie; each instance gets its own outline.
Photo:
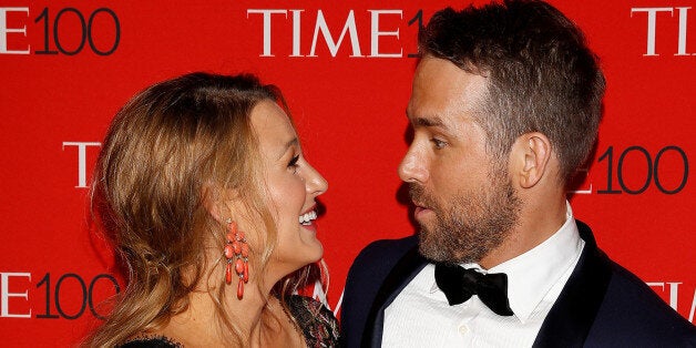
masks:
[[[567,204],[563,226],[533,249],[482,273],[508,275],[513,316],[499,316],[478,296],[450,306],[423,268],[385,310],[382,347],[531,347],[585,245]]]

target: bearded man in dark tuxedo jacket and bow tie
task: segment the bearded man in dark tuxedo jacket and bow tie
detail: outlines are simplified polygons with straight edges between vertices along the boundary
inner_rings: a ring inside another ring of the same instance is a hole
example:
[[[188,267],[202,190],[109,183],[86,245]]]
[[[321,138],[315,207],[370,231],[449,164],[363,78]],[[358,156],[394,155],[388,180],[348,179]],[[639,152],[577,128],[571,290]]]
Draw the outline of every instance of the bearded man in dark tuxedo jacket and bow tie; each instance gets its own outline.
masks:
[[[566,201],[604,94],[581,31],[544,2],[505,1],[436,13],[419,45],[399,176],[420,231],[358,256],[344,344],[696,346]]]

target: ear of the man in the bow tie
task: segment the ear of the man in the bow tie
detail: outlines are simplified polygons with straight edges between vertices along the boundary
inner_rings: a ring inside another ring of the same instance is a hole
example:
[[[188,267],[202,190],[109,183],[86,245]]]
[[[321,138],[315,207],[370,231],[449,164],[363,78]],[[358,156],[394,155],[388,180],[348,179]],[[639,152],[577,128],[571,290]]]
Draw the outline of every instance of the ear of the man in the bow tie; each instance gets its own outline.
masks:
[[[522,188],[533,187],[544,175],[549,175],[551,155],[551,141],[546,135],[539,132],[520,135],[511,151],[511,163],[515,164],[511,168],[513,178],[516,177]]]

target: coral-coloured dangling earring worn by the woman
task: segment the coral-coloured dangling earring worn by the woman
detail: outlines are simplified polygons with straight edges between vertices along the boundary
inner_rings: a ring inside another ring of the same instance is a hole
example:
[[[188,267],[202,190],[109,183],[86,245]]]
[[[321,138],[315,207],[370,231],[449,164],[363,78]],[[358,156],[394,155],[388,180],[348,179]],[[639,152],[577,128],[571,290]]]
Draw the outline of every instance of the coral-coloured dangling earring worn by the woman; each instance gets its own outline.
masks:
[[[225,283],[232,284],[232,267],[239,277],[237,298],[244,297],[244,284],[249,282],[249,246],[246,244],[244,232],[237,229],[237,223],[227,219],[227,244],[225,244]]]

